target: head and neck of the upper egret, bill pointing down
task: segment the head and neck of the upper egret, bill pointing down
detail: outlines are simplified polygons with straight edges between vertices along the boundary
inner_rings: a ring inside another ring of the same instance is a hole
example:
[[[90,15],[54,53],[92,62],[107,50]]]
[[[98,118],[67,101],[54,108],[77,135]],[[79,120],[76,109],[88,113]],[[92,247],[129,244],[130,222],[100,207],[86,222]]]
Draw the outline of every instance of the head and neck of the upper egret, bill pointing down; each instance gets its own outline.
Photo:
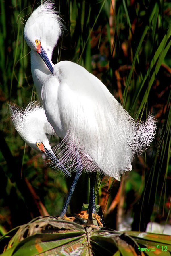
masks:
[[[31,72],[39,99],[41,99],[41,87],[51,77],[54,67],[51,61],[48,61],[47,65],[44,61],[51,60],[53,48],[64,30],[61,18],[53,8],[53,1],[40,5],[28,18],[24,28],[24,38],[31,48]],[[32,38],[34,38],[34,44]],[[45,47],[44,51],[40,42],[44,42],[42,44]]]

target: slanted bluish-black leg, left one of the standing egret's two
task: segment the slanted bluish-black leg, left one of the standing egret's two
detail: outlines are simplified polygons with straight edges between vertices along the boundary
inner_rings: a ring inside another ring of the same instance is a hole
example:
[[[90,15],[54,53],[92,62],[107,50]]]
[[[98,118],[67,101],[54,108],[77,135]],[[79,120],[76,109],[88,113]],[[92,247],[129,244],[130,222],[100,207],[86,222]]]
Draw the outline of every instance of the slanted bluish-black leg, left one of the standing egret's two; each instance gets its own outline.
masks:
[[[67,198],[66,198],[66,201],[65,201],[65,203],[64,203],[64,207],[63,207],[63,209],[62,209],[62,212],[61,212],[61,214],[59,215],[59,217],[61,217],[61,218],[63,218],[63,216],[66,214],[66,211],[67,211],[67,209],[68,209],[68,205],[69,205],[69,203],[70,203],[72,194],[73,194],[73,192],[74,192],[74,189],[75,189],[75,187],[76,187],[77,181],[78,181],[78,179],[79,179],[81,173],[82,173],[82,163],[81,163],[80,155],[79,155],[79,153],[78,153],[76,176],[75,176],[74,181],[73,181],[73,183],[72,183],[72,185],[71,185],[71,188],[70,188],[70,191],[69,191],[68,196],[67,196]]]

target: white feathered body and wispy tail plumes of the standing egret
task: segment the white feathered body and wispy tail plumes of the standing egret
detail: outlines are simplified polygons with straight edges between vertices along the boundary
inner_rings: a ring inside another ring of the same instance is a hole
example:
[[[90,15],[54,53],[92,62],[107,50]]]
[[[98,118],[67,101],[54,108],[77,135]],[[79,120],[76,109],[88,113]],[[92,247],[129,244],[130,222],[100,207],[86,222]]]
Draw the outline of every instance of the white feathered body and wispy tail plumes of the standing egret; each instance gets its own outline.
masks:
[[[48,121],[64,138],[60,161],[65,166],[74,164],[77,149],[87,171],[102,170],[120,180],[124,170],[132,169],[134,155],[155,135],[152,116],[136,122],[99,79],[70,61],[55,65],[43,85],[42,100]]]

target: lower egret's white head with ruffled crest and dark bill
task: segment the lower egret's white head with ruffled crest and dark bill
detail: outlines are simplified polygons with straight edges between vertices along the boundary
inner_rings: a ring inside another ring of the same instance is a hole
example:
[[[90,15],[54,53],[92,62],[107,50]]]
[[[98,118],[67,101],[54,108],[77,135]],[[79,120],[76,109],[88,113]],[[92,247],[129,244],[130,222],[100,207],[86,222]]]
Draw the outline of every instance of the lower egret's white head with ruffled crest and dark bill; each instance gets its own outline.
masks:
[[[11,110],[11,119],[15,129],[22,139],[33,149],[45,153],[53,160],[56,167],[62,170],[64,174],[71,177],[71,174],[55,157],[49,144],[49,135],[56,135],[51,124],[47,121],[45,111],[40,104],[29,103],[25,110],[19,109],[15,105],[9,105]]]

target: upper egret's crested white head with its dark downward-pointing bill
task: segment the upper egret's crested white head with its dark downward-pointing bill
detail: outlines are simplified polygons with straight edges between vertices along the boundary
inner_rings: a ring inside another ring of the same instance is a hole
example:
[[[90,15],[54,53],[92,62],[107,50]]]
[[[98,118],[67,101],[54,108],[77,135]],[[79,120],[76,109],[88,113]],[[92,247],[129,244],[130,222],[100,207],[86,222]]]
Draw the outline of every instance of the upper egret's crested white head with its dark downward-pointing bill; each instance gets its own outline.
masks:
[[[63,29],[61,18],[54,10],[54,2],[46,1],[39,5],[28,18],[24,28],[24,38],[28,46],[37,51],[44,61],[46,58],[51,60],[53,49]]]

